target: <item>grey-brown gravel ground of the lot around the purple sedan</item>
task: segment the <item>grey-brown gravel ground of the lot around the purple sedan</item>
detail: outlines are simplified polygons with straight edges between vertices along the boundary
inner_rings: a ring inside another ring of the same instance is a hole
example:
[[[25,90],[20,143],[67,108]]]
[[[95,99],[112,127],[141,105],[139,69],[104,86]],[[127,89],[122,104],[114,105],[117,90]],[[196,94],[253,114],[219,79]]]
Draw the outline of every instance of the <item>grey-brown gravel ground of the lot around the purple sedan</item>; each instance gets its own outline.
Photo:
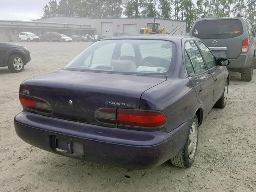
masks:
[[[1,192],[246,192],[256,191],[256,73],[251,82],[230,72],[226,107],[213,108],[199,130],[196,160],[183,169],[166,162],[151,170],[126,170],[52,154],[16,135],[13,118],[22,107],[20,83],[54,72],[90,43],[22,42],[32,60],[23,72],[0,68]]]

